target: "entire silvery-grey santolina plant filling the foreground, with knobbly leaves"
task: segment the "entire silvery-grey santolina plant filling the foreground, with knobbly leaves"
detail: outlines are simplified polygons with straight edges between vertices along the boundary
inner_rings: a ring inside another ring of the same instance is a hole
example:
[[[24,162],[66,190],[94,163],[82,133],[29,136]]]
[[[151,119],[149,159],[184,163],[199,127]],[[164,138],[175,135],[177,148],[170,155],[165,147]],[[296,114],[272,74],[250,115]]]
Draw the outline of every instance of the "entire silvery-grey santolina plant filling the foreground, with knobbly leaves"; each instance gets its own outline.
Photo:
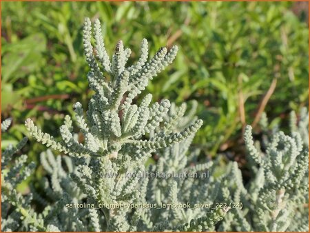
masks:
[[[187,110],[185,103],[179,107],[168,100],[152,103],[152,94],[141,103],[134,100],[149,80],[172,63],[176,46],[169,51],[161,48],[148,59],[143,39],[141,57],[126,66],[131,50],[119,41],[110,59],[100,22],[96,20],[92,30],[90,19],[84,23],[83,44],[90,66],[87,79],[94,91],[86,112],[81,103],[74,104],[73,119],[83,141],[68,115],[59,130],[61,141],[42,132],[31,119],[25,121],[30,135],[52,150],[40,154],[46,176],[30,185],[26,196],[17,192],[17,184],[35,164],[27,164],[26,155],[11,159],[26,139],[2,153],[1,230],[308,230],[307,110],[298,122],[291,114],[289,136],[277,129],[269,136],[263,118],[262,145],[254,142],[251,127],[246,128],[254,179],[245,185],[236,162],[223,165],[221,155],[204,161],[198,159],[198,149],[189,150],[203,123],[194,117],[195,101]],[[1,129],[8,129],[8,121]],[[56,151],[60,154],[55,156]],[[145,167],[152,155],[159,159]],[[206,172],[208,176],[201,176]],[[145,174],[187,175],[161,179]],[[193,179],[188,174],[198,176]]]

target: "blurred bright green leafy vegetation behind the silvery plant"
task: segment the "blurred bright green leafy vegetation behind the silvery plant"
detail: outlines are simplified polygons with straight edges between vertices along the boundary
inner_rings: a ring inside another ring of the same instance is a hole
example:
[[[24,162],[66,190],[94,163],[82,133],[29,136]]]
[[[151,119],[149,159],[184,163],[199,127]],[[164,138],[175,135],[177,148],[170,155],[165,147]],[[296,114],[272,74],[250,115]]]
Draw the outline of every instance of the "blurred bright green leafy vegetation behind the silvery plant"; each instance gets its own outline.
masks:
[[[13,118],[3,146],[26,134],[28,117],[57,136],[72,104],[86,107],[91,93],[81,36],[85,17],[101,20],[110,54],[122,39],[133,51],[130,61],[136,61],[143,38],[151,55],[162,46],[179,46],[174,63],[146,91],[155,100],[198,101],[204,124],[194,145],[207,156],[237,153],[242,126],[254,123],[259,108],[273,123],[283,119],[285,129],[289,112],[308,105],[307,3],[1,2],[1,7],[1,117]],[[260,105],[268,90],[267,105]],[[24,150],[36,160],[41,147],[32,142]]]

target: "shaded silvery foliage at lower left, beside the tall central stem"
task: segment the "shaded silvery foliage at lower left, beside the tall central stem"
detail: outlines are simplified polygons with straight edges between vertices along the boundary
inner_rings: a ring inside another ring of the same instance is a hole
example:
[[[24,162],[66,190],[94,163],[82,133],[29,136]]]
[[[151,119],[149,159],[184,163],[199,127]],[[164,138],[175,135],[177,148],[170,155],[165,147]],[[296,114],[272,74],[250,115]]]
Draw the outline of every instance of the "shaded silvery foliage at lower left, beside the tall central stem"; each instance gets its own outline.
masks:
[[[7,119],[1,123],[2,132],[8,129],[10,122],[11,119]],[[1,154],[1,230],[3,232],[83,230],[84,223],[80,221],[79,224],[75,214],[80,209],[70,209],[72,210],[70,213],[68,210],[61,212],[65,203],[74,203],[85,197],[70,181],[68,172],[75,170],[71,159],[67,156],[57,156],[55,159],[50,150],[41,153],[41,164],[51,176],[50,181],[47,177],[42,179],[45,197],[40,196],[32,185],[30,185],[31,192],[27,195],[17,191],[17,185],[27,179],[36,166],[34,162],[27,163],[28,156],[25,154],[17,155],[17,159],[13,159],[27,140],[23,138],[16,146],[8,146]],[[65,161],[68,172],[63,170],[61,158]],[[63,192],[63,189],[66,192]],[[43,207],[40,213],[33,207],[36,202],[39,207]],[[79,214],[85,216],[83,212]],[[85,221],[87,223],[88,220]]]

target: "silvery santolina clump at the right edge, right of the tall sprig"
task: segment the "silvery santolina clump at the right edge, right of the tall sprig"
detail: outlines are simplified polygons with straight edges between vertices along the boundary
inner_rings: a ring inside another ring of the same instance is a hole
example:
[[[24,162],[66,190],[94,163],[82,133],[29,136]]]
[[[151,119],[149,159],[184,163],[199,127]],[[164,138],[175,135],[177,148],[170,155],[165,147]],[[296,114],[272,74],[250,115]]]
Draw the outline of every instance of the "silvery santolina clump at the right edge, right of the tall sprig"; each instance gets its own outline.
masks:
[[[291,134],[273,129],[272,134],[263,137],[263,145],[254,142],[251,126],[245,129],[254,179],[245,186],[238,174],[227,183],[234,194],[231,201],[241,201],[243,208],[232,209],[221,223],[220,231],[309,231],[307,110],[302,109],[299,122],[292,113],[290,122]],[[267,117],[263,117],[260,125],[267,132]],[[232,170],[238,172],[237,165]]]

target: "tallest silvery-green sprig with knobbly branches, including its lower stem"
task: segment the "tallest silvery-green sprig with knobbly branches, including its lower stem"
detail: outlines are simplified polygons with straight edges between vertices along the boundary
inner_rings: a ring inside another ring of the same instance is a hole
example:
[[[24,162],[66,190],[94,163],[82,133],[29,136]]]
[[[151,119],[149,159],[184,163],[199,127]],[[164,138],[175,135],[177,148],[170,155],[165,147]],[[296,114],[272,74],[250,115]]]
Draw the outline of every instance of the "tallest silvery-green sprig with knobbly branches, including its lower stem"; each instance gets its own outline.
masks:
[[[79,132],[83,134],[83,143],[74,138],[72,119],[69,116],[65,117],[60,127],[62,141],[56,141],[50,134],[41,132],[32,120],[25,122],[31,136],[54,150],[68,154],[76,168],[74,172],[68,172],[68,176],[61,170],[61,159],[44,161],[44,156],[41,158],[43,167],[52,176],[52,192],[56,196],[62,196],[55,204],[59,207],[59,212],[65,212],[65,202],[81,202],[83,195],[87,196],[83,201],[96,206],[140,203],[143,195],[140,176],[126,174],[143,174],[145,161],[152,152],[192,139],[202,125],[201,120],[191,121],[186,128],[176,132],[176,120],[183,116],[184,105],[175,114],[167,115],[172,110],[169,101],[151,103],[152,94],[145,95],[140,105],[134,103],[134,98],[145,89],[149,79],[172,63],[178,50],[176,46],[169,51],[161,48],[148,60],[147,41],[143,39],[140,59],[135,65],[126,67],[130,49],[123,48],[123,42],[119,41],[110,60],[98,20],[94,23],[93,33],[96,57],[91,43],[91,22],[86,19],[83,43],[90,65],[87,79],[95,94],[85,116],[81,103],[74,104],[74,118]],[[186,147],[183,150],[185,149]],[[66,185],[74,187],[70,183],[72,181],[79,188],[74,196],[70,192],[71,188],[65,188]],[[92,229],[86,227],[86,230],[128,231],[131,222],[141,218],[140,214],[134,215],[132,211],[121,207],[90,210]],[[76,222],[76,228],[83,227],[85,221],[81,219],[79,211],[72,210],[70,214],[71,222]],[[218,216],[223,215],[223,212],[218,210],[209,215],[210,219],[219,220]],[[63,219],[63,215],[57,215],[54,211],[48,214],[45,227],[72,230],[70,225],[61,223]]]

